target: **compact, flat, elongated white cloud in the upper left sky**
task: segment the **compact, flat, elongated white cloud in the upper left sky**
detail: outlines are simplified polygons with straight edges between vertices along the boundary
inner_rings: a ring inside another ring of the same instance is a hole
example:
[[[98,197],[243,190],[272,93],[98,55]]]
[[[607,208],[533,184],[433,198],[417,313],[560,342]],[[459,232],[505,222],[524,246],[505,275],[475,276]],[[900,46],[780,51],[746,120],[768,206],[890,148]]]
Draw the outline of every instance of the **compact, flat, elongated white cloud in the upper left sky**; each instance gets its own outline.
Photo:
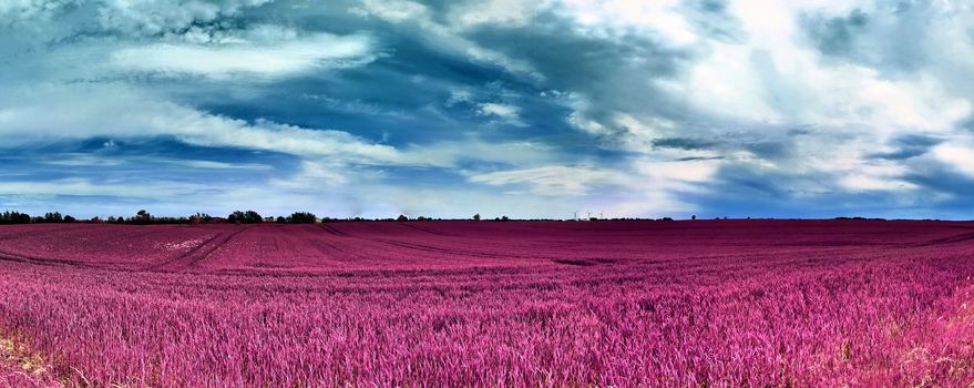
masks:
[[[165,43],[127,48],[112,54],[112,64],[129,71],[227,79],[234,75],[293,75],[360,65],[372,59],[367,37],[319,33],[265,44]]]

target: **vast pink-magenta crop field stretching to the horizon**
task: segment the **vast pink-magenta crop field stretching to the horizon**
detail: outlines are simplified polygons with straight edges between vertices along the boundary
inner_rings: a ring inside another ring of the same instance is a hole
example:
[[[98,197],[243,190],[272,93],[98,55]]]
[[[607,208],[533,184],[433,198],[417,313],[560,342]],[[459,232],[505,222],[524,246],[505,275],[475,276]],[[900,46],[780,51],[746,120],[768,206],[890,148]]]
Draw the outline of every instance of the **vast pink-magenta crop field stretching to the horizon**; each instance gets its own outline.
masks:
[[[967,386],[972,254],[936,222],[4,226],[0,386]]]

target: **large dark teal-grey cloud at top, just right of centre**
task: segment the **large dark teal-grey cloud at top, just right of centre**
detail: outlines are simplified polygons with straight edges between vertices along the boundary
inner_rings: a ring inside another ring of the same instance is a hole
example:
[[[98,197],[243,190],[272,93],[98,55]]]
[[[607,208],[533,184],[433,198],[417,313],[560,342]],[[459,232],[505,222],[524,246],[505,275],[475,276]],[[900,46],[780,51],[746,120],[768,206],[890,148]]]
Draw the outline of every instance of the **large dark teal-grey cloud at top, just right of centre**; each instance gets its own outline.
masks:
[[[688,120],[695,113],[653,84],[681,74],[693,63],[693,52],[666,47],[654,37],[605,40],[571,31],[563,18],[540,14],[527,25],[481,29],[470,37],[526,60],[544,75],[544,88],[584,96],[589,105],[583,113],[611,131],[627,131],[613,124],[611,116],[617,112],[670,120]]]

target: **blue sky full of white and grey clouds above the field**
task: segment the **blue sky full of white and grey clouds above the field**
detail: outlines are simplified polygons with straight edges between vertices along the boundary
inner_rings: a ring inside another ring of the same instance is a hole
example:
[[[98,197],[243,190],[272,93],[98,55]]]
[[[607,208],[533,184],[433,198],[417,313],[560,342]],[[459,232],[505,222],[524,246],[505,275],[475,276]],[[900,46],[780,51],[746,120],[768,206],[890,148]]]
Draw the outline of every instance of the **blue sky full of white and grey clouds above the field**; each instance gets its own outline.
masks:
[[[0,0],[0,210],[974,218],[974,6]]]

